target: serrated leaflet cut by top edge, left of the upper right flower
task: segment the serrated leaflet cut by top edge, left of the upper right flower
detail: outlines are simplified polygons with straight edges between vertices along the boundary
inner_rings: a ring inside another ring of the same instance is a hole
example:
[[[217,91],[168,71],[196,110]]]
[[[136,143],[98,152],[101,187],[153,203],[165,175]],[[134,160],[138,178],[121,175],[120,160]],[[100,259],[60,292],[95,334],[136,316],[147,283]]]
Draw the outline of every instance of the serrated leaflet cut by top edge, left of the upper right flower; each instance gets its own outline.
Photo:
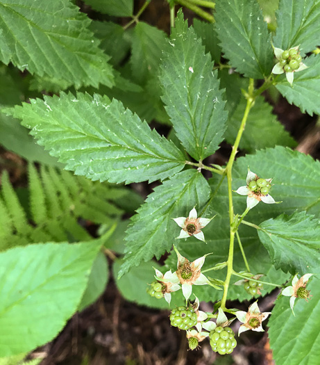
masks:
[[[274,57],[271,35],[257,1],[219,0],[216,10],[220,45],[230,65],[253,79],[269,76]]]

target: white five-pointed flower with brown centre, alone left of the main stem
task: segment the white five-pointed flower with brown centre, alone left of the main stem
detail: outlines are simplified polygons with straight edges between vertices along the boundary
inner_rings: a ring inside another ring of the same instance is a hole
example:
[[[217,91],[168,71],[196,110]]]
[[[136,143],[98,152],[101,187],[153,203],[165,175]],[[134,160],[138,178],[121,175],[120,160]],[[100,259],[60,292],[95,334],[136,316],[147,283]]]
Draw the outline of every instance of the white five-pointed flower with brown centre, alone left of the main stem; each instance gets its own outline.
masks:
[[[197,218],[196,209],[193,208],[188,217],[178,217],[173,218],[176,224],[181,227],[180,235],[177,238],[188,238],[190,236],[194,236],[199,240],[205,242],[205,236],[203,236],[203,232],[201,229],[208,225],[212,218]]]

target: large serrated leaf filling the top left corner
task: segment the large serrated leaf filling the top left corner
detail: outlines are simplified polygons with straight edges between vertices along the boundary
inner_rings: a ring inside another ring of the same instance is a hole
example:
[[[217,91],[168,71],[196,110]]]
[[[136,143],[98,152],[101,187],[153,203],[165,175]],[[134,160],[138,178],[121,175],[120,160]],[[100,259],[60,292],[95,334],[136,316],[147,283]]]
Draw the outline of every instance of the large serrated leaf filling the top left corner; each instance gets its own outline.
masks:
[[[90,19],[70,1],[1,1],[0,60],[62,85],[111,87],[109,57],[89,25]]]

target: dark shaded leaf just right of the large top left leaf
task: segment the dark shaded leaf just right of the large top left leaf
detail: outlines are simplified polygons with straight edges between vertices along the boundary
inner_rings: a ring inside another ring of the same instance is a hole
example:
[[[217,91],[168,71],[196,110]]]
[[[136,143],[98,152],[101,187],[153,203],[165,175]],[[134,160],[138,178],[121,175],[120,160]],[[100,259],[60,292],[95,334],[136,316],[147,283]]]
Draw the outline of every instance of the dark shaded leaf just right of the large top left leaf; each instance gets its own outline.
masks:
[[[124,28],[113,22],[93,21],[90,29],[101,40],[100,48],[111,56],[110,63],[118,65],[130,49],[130,43],[124,37]]]

